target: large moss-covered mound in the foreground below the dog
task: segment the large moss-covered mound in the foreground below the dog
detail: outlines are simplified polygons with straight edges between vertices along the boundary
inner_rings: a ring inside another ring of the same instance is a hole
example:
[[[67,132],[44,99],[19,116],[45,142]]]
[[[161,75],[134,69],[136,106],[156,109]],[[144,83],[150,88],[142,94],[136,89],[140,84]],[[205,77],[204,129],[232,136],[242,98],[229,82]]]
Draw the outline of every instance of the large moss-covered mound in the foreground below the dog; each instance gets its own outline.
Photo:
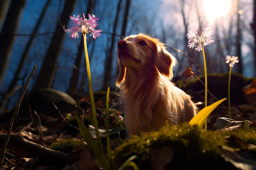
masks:
[[[128,158],[137,155],[138,159],[134,162],[139,169],[153,169],[155,165],[160,168],[161,164],[163,168],[160,169],[236,169],[221,157],[221,146],[228,146],[229,143],[225,137],[234,133],[245,142],[255,144],[255,132],[256,130],[241,129],[221,133],[205,131],[188,123],[167,125],[157,132],[126,139],[113,151],[113,160],[119,167]],[[160,163],[154,161],[158,158]]]

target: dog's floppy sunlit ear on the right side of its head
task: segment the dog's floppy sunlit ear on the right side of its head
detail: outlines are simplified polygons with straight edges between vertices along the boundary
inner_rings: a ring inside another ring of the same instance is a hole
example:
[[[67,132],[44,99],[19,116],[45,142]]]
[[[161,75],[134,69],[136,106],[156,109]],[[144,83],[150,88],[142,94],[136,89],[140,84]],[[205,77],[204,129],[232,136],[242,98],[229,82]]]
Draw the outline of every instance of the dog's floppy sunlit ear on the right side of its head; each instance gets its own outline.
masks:
[[[176,65],[176,59],[164,47],[156,45],[156,48],[156,68],[160,74],[172,78],[174,76],[172,70]]]

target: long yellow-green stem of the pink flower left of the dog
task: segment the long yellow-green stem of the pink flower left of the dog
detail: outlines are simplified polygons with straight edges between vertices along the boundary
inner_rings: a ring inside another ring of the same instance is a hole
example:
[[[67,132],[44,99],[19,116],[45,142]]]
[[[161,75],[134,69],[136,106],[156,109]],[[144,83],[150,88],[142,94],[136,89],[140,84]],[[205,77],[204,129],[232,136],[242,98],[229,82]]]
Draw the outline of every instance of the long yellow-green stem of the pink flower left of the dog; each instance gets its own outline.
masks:
[[[98,131],[98,121],[97,121],[96,108],[95,108],[94,96],[93,96],[92,76],[90,75],[90,63],[89,63],[89,57],[88,57],[88,51],[87,51],[87,45],[86,45],[86,34],[83,34],[83,36],[84,36],[84,52],[85,52],[86,69],[88,74],[90,103],[92,105],[93,122],[94,122],[95,133],[98,141],[99,151],[102,152],[103,154],[100,132]]]

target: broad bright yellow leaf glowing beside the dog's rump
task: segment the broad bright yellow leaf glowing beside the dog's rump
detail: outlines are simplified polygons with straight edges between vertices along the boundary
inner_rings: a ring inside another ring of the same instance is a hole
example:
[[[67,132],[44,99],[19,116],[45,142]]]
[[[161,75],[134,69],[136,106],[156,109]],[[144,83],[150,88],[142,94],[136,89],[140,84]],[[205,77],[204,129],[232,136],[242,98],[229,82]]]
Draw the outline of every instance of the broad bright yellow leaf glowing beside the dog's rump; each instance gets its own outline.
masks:
[[[189,121],[189,124],[191,125],[198,125],[200,128],[203,127],[205,119],[209,116],[210,113],[218,106],[220,105],[226,98],[221,99],[213,103],[212,105],[209,105],[208,107],[205,107],[201,109],[200,112],[196,114],[195,117],[192,118],[191,121]]]

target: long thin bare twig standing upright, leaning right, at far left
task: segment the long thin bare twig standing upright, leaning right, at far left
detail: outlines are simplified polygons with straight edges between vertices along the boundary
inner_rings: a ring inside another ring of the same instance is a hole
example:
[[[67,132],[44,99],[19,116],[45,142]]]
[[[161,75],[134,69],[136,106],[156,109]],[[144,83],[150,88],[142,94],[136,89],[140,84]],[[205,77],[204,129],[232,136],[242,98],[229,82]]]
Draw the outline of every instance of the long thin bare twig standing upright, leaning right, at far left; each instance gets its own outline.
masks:
[[[19,113],[19,108],[20,108],[20,103],[27,91],[27,87],[28,87],[28,83],[30,82],[32,76],[34,75],[35,73],[35,69],[36,69],[36,65],[33,67],[33,70],[32,70],[32,73],[30,74],[30,76],[28,77],[27,79],[27,82],[26,82],[26,85],[22,91],[22,94],[20,95],[19,97],[19,100],[18,100],[18,103],[16,105],[16,109],[15,109],[15,112],[13,114],[13,117],[11,117],[11,121],[10,121],[10,125],[9,125],[9,128],[7,130],[7,134],[6,134],[6,138],[5,138],[5,142],[3,143],[3,147],[2,147],[2,150],[1,150],[1,157],[0,157],[0,168],[2,167],[3,165],[3,158],[5,158],[5,150],[6,150],[6,146],[9,142],[9,139],[10,139],[10,135],[11,135],[11,129],[13,129],[13,123],[14,123],[14,120],[15,118],[18,116],[18,113]]]

